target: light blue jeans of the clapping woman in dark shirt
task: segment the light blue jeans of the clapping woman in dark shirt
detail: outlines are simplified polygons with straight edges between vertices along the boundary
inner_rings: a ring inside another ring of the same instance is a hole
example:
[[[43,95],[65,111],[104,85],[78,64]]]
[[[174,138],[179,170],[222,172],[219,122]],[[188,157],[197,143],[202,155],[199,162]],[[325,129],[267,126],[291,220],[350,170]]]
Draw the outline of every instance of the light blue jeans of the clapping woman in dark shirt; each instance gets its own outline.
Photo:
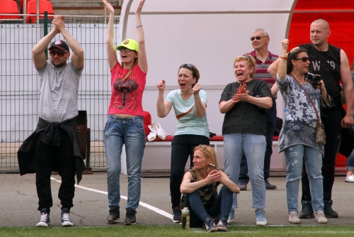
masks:
[[[252,207],[263,209],[265,207],[264,184],[264,153],[265,136],[250,133],[231,133],[224,135],[224,167],[225,173],[232,182],[239,180],[240,163],[246,155],[249,166],[249,178],[252,185]],[[237,195],[234,195],[233,208],[237,208]]]

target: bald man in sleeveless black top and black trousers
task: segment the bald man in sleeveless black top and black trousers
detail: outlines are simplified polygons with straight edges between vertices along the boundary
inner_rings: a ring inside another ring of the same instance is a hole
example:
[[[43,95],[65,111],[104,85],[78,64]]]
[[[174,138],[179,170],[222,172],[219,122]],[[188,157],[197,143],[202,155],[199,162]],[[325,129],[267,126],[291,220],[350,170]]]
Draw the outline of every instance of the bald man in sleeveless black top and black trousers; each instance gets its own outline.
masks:
[[[299,45],[306,48],[310,60],[309,72],[321,75],[328,94],[332,97],[331,107],[321,109],[321,121],[326,132],[324,158],[322,160],[322,175],[324,177],[324,214],[329,218],[338,217],[332,209],[332,187],[338,146],[341,142],[342,128],[353,126],[353,82],[350,76],[350,67],[346,53],[328,43],[331,35],[329,23],[323,19],[312,22],[310,39],[312,43]],[[344,111],[340,92],[343,85],[344,99],[347,111]],[[307,172],[302,170],[302,211],[299,218],[310,218],[314,212],[309,189]]]

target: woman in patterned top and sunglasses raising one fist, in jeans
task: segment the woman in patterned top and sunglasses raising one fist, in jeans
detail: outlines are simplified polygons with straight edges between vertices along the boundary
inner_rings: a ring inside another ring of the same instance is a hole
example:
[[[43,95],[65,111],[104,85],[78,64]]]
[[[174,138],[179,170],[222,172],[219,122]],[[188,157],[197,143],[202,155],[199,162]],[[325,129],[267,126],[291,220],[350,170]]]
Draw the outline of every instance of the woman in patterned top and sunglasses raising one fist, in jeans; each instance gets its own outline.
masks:
[[[285,113],[282,131],[280,131],[279,150],[284,151],[287,164],[286,191],[289,221],[292,224],[300,223],[297,197],[302,164],[305,162],[312,195],[312,209],[316,221],[323,224],[327,222],[324,216],[321,174],[324,147],[316,143],[316,129],[319,122],[317,118],[320,119],[320,103],[324,101],[328,104],[329,97],[322,80],[315,84],[313,81],[310,83],[311,81],[306,77],[310,63],[307,51],[303,48],[294,48],[287,54],[288,45],[289,40],[282,40],[277,84],[288,111]]]

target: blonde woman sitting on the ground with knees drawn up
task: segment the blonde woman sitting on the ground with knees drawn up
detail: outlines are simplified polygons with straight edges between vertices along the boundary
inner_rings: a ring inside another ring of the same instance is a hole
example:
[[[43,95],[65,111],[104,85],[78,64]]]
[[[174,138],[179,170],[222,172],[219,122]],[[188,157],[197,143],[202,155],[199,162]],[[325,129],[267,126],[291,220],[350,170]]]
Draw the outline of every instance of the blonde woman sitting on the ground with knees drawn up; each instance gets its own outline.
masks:
[[[209,145],[195,147],[193,164],[194,167],[185,172],[181,184],[181,207],[190,209],[190,227],[200,228],[204,224],[207,232],[228,231],[232,193],[239,194],[239,187],[224,172],[217,170],[216,154]],[[219,184],[224,186],[217,194]],[[212,216],[217,218],[217,225]]]

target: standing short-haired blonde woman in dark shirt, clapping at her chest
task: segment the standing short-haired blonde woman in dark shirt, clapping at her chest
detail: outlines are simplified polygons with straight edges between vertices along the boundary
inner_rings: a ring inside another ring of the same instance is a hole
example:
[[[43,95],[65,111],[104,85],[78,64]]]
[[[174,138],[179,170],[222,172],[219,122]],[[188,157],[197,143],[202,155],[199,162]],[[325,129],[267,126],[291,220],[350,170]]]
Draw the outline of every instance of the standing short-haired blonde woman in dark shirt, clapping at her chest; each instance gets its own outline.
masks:
[[[273,105],[268,85],[261,79],[253,79],[256,62],[251,55],[236,57],[234,75],[236,82],[227,84],[219,101],[219,110],[224,116],[225,173],[232,182],[239,180],[240,164],[246,156],[249,178],[252,185],[252,207],[256,224],[266,225],[264,153],[267,114],[265,109]],[[236,195],[232,208],[237,208]]]

